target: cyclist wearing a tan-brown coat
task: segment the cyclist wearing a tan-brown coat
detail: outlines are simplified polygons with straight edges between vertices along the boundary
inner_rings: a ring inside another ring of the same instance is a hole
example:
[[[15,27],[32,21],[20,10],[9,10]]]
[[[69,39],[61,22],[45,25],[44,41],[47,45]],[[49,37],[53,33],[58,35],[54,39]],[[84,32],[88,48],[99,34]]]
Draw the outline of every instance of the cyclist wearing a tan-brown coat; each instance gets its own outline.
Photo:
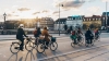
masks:
[[[41,35],[45,36],[44,40],[46,40],[46,49],[48,49],[48,44],[50,41],[49,37],[52,37],[51,35],[49,35],[47,27],[44,27]]]

